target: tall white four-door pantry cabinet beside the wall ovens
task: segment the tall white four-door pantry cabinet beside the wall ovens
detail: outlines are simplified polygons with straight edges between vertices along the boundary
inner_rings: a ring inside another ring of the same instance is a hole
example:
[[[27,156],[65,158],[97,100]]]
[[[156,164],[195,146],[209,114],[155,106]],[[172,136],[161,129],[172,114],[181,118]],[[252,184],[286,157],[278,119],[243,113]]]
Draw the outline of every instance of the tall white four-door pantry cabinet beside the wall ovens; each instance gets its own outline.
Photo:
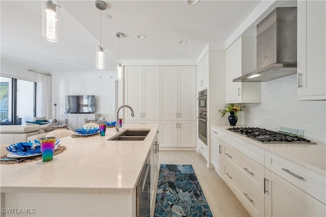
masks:
[[[196,147],[196,67],[160,68],[160,146]]]

